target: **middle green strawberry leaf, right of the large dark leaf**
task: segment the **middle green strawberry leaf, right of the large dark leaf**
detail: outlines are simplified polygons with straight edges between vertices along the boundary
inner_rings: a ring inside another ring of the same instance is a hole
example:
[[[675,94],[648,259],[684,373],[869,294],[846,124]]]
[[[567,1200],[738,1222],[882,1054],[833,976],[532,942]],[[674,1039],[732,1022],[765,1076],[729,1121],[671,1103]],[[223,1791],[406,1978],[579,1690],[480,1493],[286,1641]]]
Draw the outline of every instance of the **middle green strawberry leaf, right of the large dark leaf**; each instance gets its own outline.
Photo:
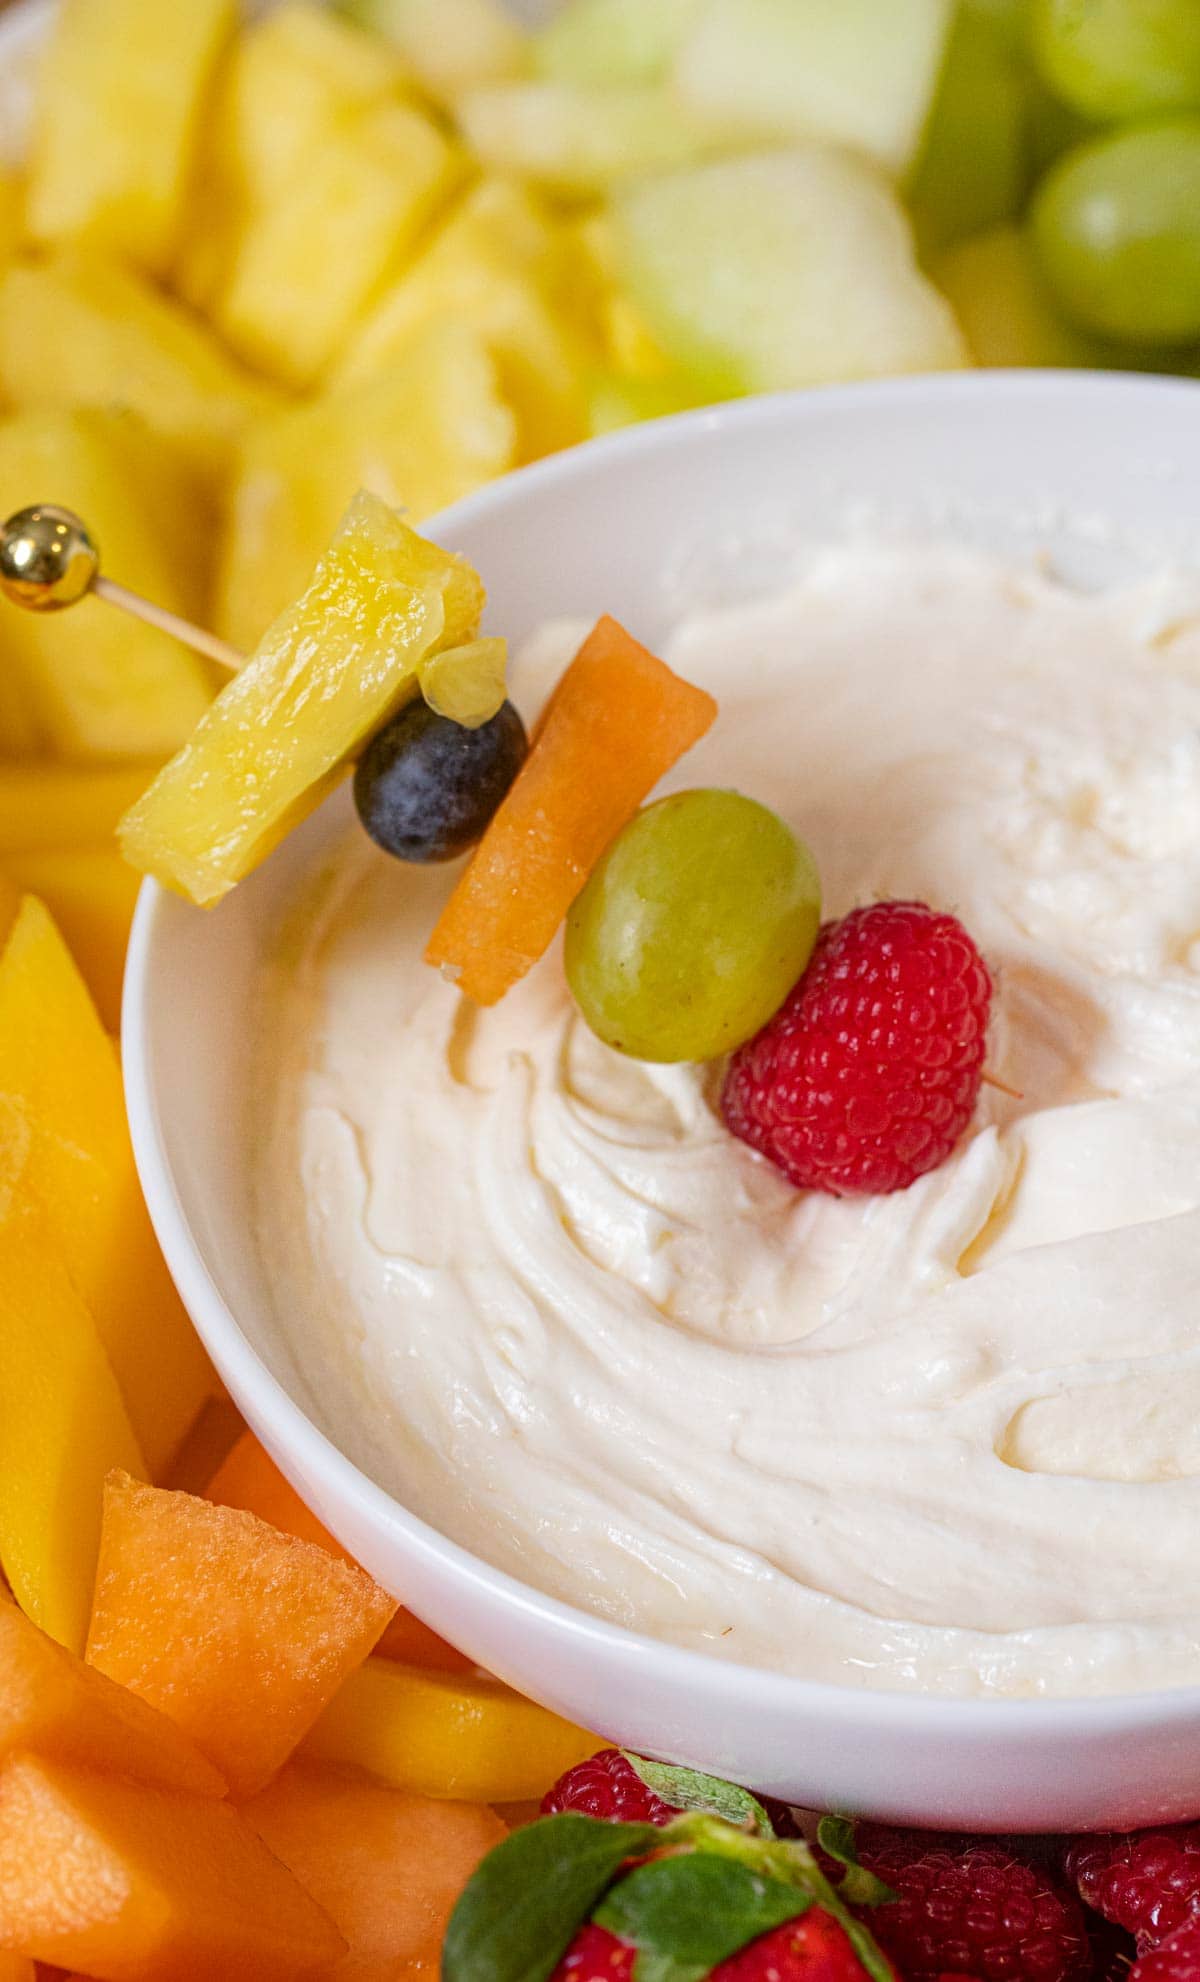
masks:
[[[688,1851],[637,1865],[593,1913],[637,1950],[635,1982],[702,1982],[718,1962],[795,1921],[811,1895],[728,1857]]]

